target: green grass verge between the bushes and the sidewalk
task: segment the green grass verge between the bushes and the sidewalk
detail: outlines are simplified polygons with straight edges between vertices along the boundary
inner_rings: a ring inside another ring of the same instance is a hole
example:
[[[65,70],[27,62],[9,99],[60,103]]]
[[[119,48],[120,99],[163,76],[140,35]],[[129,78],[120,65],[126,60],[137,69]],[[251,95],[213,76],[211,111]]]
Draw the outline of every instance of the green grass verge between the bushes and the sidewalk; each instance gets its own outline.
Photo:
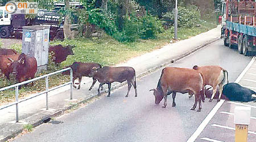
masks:
[[[203,22],[200,27],[179,28],[177,37],[179,40],[188,39],[189,37],[198,35],[202,32],[206,32],[214,27],[216,27],[216,23]],[[43,74],[54,72],[63,68],[64,66],[71,65],[74,61],[97,62],[102,66],[115,65],[120,62],[125,62],[129,60],[131,57],[139,56],[143,53],[158,49],[163,45],[170,43],[170,40],[175,41],[173,27],[159,34],[156,39],[138,40],[133,43],[119,43],[111,36],[108,36],[106,34],[99,39],[78,38],[64,41],[51,41],[51,45],[75,45],[76,47],[73,48],[73,52],[75,53],[75,55],[69,55],[67,57],[67,60],[61,62],[60,66],[55,66],[52,62],[49,62],[47,72],[37,74],[36,76],[42,76]],[[12,45],[11,48],[16,49],[16,51],[19,52],[21,51],[20,44]],[[57,74],[49,78],[49,87],[57,86],[60,83],[64,83],[67,81],[69,81],[68,76]],[[4,86],[9,86],[14,83],[14,78],[12,78],[11,81],[7,81],[3,80],[3,76],[0,77],[0,88]],[[22,89],[19,90],[19,99],[26,97],[26,95],[31,94],[31,92],[36,93],[38,91],[45,90],[44,79],[35,81],[34,83],[34,86],[28,85],[27,87],[22,87]],[[0,105],[1,103],[4,104],[11,102],[14,98],[14,89],[1,91]]]

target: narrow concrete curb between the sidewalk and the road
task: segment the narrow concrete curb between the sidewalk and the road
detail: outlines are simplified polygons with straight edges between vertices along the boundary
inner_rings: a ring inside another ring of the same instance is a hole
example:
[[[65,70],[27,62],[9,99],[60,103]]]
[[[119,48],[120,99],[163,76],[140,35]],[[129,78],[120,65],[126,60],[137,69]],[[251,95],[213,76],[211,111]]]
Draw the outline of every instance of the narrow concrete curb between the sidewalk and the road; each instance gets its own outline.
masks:
[[[216,39],[210,40],[210,41],[208,41],[207,43],[201,44],[201,45],[199,45],[198,47],[196,47],[195,49],[192,49],[192,51],[185,52],[183,55],[174,57],[174,59],[171,59],[170,61],[167,61],[167,62],[165,62],[164,64],[157,65],[157,66],[155,66],[155,67],[153,67],[153,68],[151,68],[151,69],[149,69],[149,70],[146,70],[145,72],[142,72],[142,73],[138,74],[136,78],[142,78],[142,77],[146,76],[147,74],[150,74],[150,73],[152,73],[152,72],[155,72],[156,70],[158,70],[158,69],[160,69],[160,68],[162,68],[162,67],[164,67],[164,66],[167,66],[167,65],[169,65],[169,64],[172,64],[172,63],[174,63],[174,62],[177,61],[177,60],[183,59],[184,57],[190,55],[191,53],[196,52],[197,50],[199,50],[199,49],[201,49],[201,48],[203,48],[203,47],[205,47],[205,46],[207,46],[207,45],[209,45],[209,44],[211,44],[211,43],[213,43],[214,41],[217,41],[217,40],[219,40],[219,39],[220,39],[220,37],[217,37]],[[119,87],[122,87],[122,86],[124,86],[124,85],[126,85],[126,84],[127,84],[126,82],[123,82],[123,83],[119,83],[118,85],[113,85],[111,90],[113,91],[113,90],[119,89]],[[97,96],[101,96],[101,95],[103,95],[103,94],[105,94],[105,93],[108,93],[108,89],[105,89],[105,90],[102,91],[100,94],[92,95],[92,96],[90,96],[90,97],[88,97],[88,98],[83,99],[83,100],[80,101],[80,102],[77,102],[77,103],[75,103],[75,104],[73,104],[73,105],[71,105],[71,106],[68,106],[67,108],[61,109],[61,110],[59,110],[59,111],[53,113],[52,115],[44,116],[42,119],[38,120],[38,122],[35,122],[35,123],[32,124],[32,125],[33,125],[33,127],[37,127],[37,126],[39,126],[40,124],[47,123],[49,120],[51,120],[51,118],[56,117],[56,116],[63,115],[66,111],[71,110],[72,108],[77,107],[77,105],[80,105],[80,104],[82,104],[82,103],[85,103],[85,102],[87,102],[87,101],[90,101],[90,99],[93,99],[94,97],[97,97]],[[22,131],[23,131],[23,128],[20,128],[19,130],[13,132],[11,135],[6,136],[5,138],[3,138],[3,139],[1,140],[1,142],[7,141],[7,140],[11,139],[12,137],[18,136],[19,133],[21,133]]]

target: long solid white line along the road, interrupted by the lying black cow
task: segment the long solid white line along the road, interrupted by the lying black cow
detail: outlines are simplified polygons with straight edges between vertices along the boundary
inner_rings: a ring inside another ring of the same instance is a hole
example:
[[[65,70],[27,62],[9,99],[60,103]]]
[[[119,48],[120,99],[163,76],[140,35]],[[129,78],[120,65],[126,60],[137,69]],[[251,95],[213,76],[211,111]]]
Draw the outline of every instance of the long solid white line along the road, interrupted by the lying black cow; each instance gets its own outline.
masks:
[[[256,57],[254,56],[251,61],[249,62],[249,64],[246,66],[246,68],[242,71],[242,73],[237,77],[237,80],[234,81],[235,83],[238,83],[241,81],[242,77],[245,75],[245,73],[247,72],[247,70],[250,69],[251,65],[253,65],[254,61],[255,61]],[[207,124],[210,122],[210,120],[213,118],[213,116],[216,114],[216,112],[218,111],[218,109],[222,106],[222,104],[225,101],[221,99],[220,102],[218,102],[216,104],[216,106],[213,107],[213,109],[210,111],[210,113],[206,116],[206,118],[203,120],[203,122],[200,124],[199,127],[197,127],[196,131],[192,134],[191,137],[189,137],[189,139],[187,140],[187,142],[193,142],[196,140],[196,138],[200,135],[201,132],[203,132],[204,128],[207,126]]]

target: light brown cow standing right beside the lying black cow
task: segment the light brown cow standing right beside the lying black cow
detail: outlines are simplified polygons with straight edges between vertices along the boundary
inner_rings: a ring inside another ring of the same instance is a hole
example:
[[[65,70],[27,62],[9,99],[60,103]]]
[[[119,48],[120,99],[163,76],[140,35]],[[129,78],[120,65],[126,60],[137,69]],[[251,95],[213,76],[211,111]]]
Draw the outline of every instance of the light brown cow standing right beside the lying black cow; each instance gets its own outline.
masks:
[[[221,99],[222,88],[225,82],[228,81],[228,71],[221,68],[218,65],[208,65],[208,66],[193,66],[193,69],[199,70],[204,76],[205,85],[210,85],[213,87],[212,97],[209,99],[209,102],[212,102],[214,95],[216,94],[217,86],[220,87],[220,95],[218,96],[218,100]]]

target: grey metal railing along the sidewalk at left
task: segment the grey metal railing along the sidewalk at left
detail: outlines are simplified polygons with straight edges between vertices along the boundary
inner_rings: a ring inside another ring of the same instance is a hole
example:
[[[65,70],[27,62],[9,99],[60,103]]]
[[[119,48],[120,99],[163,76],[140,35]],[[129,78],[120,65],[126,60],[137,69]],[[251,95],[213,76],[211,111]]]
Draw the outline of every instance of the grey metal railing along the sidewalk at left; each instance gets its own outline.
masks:
[[[70,71],[70,81],[67,82],[67,83],[64,83],[62,85],[59,85],[59,86],[56,86],[56,87],[52,87],[51,89],[49,89],[48,77],[52,76],[53,74],[64,72],[66,70]],[[20,85],[24,85],[26,83],[30,83],[30,82],[33,82],[33,81],[36,81],[36,80],[40,80],[42,78],[46,78],[46,90],[44,90],[44,91],[42,91],[40,93],[34,94],[34,95],[32,95],[32,96],[30,96],[28,98],[24,98],[24,99],[20,99],[20,100],[18,99],[19,98],[19,86]],[[10,89],[12,87],[15,87],[15,99],[16,99],[16,101],[13,102],[13,103],[9,103],[8,105],[1,106],[0,110],[2,110],[3,108],[7,108],[7,107],[10,107],[10,106],[16,105],[16,122],[19,122],[19,111],[18,111],[19,107],[18,107],[18,104],[21,103],[21,102],[27,101],[28,99],[35,98],[35,97],[37,97],[39,95],[42,95],[42,94],[46,94],[46,110],[48,110],[48,92],[49,91],[52,91],[52,90],[55,90],[55,89],[58,89],[60,87],[63,87],[63,86],[66,86],[66,85],[70,84],[70,99],[73,98],[73,91],[72,91],[73,82],[72,82],[72,79],[73,79],[72,69],[71,68],[66,68],[66,69],[58,70],[58,71],[53,72],[53,73],[45,74],[45,75],[40,76],[40,77],[33,78],[32,80],[27,80],[27,81],[24,81],[24,82],[16,83],[14,85],[7,86],[7,87],[2,87],[0,89],[0,91],[7,90],[7,89]]]

